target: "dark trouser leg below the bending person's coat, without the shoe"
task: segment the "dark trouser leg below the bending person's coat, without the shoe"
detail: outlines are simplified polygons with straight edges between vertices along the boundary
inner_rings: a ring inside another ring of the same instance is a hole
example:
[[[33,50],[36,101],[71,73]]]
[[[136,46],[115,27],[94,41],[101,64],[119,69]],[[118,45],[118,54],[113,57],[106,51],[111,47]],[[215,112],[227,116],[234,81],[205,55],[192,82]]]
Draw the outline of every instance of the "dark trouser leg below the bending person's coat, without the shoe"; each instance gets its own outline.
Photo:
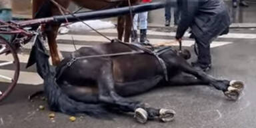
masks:
[[[202,45],[203,43],[195,39],[195,43],[197,43],[198,48],[198,56],[197,62],[202,65],[209,65],[211,64],[211,49],[210,49],[210,42],[209,45],[206,47]]]

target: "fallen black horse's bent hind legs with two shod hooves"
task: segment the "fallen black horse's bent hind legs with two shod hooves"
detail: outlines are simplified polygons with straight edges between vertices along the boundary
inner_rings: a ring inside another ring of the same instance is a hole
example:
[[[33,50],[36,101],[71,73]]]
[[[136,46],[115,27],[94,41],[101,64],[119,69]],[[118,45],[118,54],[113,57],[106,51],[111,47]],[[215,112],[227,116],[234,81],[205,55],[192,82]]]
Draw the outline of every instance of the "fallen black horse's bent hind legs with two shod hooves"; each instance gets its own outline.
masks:
[[[99,101],[112,105],[123,112],[132,112],[139,123],[146,123],[148,119],[158,117],[161,121],[172,121],[175,112],[170,109],[154,109],[147,107],[145,103],[132,101],[121,97],[115,92],[113,79],[113,66],[111,61],[105,61],[97,75],[99,88]]]

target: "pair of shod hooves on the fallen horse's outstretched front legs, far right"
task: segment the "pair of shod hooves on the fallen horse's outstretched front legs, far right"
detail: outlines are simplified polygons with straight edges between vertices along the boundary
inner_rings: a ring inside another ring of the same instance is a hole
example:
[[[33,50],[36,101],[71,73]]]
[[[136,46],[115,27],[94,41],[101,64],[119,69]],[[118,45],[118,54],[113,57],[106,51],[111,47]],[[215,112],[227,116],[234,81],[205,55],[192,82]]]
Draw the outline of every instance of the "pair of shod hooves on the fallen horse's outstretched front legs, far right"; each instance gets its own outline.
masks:
[[[239,99],[239,96],[241,94],[241,91],[243,91],[244,84],[241,81],[230,81],[229,82],[229,87],[227,88],[227,91],[225,91],[225,95],[233,100],[237,101]]]

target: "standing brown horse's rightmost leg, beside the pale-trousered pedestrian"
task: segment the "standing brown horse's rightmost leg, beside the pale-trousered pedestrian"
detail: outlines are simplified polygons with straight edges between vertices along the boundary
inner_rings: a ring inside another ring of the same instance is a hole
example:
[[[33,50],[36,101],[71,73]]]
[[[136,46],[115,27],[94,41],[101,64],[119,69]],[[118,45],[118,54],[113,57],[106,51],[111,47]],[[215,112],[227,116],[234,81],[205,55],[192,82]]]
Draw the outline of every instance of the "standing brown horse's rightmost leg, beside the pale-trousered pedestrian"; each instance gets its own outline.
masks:
[[[125,15],[125,42],[129,42],[134,15]]]

